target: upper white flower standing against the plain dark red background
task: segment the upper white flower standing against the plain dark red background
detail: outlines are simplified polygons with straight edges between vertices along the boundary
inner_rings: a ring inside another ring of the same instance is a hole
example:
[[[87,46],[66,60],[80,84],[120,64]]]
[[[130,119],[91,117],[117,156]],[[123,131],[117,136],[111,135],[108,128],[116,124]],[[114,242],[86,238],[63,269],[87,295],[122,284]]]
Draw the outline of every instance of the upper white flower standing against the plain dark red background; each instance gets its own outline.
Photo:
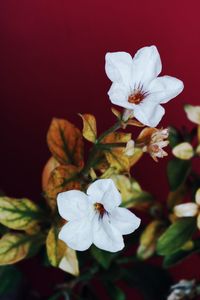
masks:
[[[170,76],[157,77],[162,69],[155,46],[141,48],[132,58],[127,52],[106,54],[105,70],[113,82],[108,92],[112,103],[133,110],[144,125],[156,127],[164,104],[183,90],[183,82]]]

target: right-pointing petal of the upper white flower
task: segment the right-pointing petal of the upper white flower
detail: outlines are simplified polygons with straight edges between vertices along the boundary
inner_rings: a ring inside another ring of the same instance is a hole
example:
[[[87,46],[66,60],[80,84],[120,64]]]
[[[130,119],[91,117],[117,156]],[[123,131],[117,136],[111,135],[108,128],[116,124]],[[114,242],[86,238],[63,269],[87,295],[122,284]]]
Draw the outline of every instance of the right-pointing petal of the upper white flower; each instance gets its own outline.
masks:
[[[156,103],[167,103],[178,96],[184,88],[183,82],[175,77],[162,76],[154,79],[148,92]]]

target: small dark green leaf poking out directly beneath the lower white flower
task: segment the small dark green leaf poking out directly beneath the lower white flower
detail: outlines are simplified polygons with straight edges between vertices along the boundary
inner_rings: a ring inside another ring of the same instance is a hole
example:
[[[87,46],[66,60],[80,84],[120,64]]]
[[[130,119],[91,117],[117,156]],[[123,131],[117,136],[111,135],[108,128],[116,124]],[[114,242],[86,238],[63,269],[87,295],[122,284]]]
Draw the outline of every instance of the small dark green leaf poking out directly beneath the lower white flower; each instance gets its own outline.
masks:
[[[112,260],[118,255],[117,253],[110,253],[99,248],[92,246],[91,254],[96,259],[96,261],[104,268],[108,269]]]

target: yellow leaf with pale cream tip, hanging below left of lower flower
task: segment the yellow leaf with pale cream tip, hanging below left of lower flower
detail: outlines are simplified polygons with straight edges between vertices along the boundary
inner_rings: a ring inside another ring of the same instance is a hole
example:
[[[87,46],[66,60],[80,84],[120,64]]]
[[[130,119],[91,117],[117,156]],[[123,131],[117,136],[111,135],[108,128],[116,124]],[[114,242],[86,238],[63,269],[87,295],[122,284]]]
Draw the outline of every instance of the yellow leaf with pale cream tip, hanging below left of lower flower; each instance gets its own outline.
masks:
[[[74,276],[79,275],[79,266],[76,251],[58,239],[59,230],[56,226],[52,227],[47,235],[46,247],[47,255],[52,266],[58,267],[63,271]]]

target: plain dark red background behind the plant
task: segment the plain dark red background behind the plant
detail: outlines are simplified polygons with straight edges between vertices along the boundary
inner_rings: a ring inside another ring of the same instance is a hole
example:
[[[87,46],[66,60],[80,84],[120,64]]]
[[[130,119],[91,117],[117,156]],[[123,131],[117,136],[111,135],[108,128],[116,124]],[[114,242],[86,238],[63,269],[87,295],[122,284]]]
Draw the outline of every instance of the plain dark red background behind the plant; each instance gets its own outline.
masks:
[[[161,125],[188,125],[184,103],[199,103],[199,1],[0,1],[0,186],[10,196],[40,197],[40,174],[49,153],[51,118],[81,126],[78,112],[96,115],[99,132],[114,121],[104,72],[107,51],[132,54],[155,44],[163,73],[185,83],[165,106]],[[135,177],[164,201],[166,160],[145,158]],[[200,275],[193,259],[175,278]]]

